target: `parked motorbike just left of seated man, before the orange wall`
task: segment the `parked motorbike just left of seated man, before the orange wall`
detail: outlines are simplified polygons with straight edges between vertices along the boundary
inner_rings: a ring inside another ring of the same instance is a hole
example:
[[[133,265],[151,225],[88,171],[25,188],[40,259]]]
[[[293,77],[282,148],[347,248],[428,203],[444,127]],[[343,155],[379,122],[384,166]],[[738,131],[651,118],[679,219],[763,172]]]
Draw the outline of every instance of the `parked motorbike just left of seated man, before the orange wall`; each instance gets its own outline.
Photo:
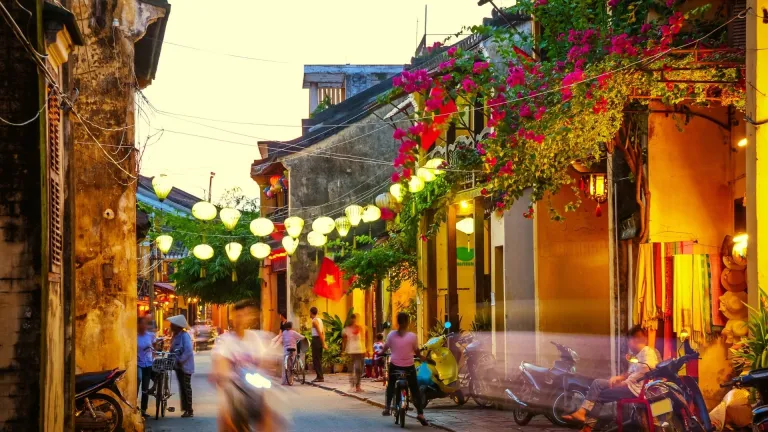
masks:
[[[562,416],[581,406],[594,381],[576,374],[576,351],[557,342],[552,344],[560,352],[554,366],[547,369],[522,362],[514,392],[505,391],[514,405],[512,418],[520,426],[527,425],[536,415],[544,415],[555,425],[567,426],[569,423]]]

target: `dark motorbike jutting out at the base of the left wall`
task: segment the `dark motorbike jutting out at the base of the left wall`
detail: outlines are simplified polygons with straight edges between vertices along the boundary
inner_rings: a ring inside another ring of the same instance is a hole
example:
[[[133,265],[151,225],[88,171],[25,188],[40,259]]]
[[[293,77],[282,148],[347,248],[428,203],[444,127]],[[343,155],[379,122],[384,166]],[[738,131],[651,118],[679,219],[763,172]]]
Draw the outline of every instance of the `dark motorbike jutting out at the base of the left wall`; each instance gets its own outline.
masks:
[[[75,430],[115,432],[123,430],[123,409],[111,391],[126,406],[133,408],[120,393],[117,382],[125,371],[92,372],[75,376]]]

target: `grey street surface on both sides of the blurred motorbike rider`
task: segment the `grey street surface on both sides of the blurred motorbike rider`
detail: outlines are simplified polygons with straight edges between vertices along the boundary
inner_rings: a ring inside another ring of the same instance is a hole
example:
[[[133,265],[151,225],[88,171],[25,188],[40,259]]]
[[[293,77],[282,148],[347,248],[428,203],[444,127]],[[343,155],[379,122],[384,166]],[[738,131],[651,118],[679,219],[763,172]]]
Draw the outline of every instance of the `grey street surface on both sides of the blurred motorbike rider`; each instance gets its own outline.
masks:
[[[195,418],[182,419],[178,412],[179,400],[174,395],[171,406],[177,408],[177,412],[166,414],[168,417],[147,420],[147,432],[215,432],[216,431],[216,391],[208,383],[210,371],[210,355],[200,353],[195,358],[197,373],[193,375],[193,403]],[[174,383],[174,392],[178,386]],[[394,431],[392,417],[381,416],[381,409],[353,398],[340,396],[327,390],[309,385],[293,387],[285,394],[291,405],[293,424],[290,430],[297,432],[336,432],[336,431]],[[150,405],[154,402],[150,398]],[[150,408],[154,413],[154,408]],[[424,430],[413,419],[406,420],[406,429]],[[427,429],[435,430],[435,429]]]

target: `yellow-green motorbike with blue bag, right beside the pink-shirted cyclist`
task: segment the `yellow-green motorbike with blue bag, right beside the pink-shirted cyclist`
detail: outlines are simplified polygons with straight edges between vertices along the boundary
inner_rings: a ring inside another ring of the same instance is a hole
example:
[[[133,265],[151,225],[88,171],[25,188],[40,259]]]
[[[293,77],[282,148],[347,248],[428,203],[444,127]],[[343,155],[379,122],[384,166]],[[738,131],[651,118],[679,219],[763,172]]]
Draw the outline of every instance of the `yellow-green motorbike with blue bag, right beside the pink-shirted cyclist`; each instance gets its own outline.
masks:
[[[450,397],[457,405],[466,403],[464,392],[459,380],[459,364],[451,352],[452,333],[449,333],[451,323],[445,323],[445,333],[433,337],[421,347],[426,355],[422,363],[416,359],[416,381],[422,397],[422,407],[426,407],[432,399]]]

